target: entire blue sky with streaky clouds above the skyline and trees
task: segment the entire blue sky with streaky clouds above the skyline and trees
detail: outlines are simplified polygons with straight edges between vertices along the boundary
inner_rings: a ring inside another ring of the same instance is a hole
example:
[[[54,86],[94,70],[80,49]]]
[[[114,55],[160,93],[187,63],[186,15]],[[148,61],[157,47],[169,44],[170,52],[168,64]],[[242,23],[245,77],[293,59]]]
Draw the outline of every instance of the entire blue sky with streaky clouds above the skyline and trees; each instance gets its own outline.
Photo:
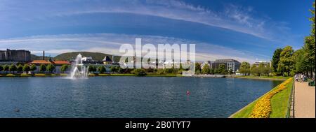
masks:
[[[301,48],[312,0],[0,0],[0,50],[119,54],[119,45],[195,43],[198,60],[270,61]]]

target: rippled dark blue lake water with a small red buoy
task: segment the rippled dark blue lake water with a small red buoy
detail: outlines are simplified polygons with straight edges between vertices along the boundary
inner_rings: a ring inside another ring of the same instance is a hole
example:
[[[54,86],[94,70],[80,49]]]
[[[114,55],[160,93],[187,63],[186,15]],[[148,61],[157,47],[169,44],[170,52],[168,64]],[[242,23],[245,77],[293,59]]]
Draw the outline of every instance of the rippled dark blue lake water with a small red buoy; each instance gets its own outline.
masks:
[[[238,78],[0,78],[0,117],[229,117],[279,83]]]

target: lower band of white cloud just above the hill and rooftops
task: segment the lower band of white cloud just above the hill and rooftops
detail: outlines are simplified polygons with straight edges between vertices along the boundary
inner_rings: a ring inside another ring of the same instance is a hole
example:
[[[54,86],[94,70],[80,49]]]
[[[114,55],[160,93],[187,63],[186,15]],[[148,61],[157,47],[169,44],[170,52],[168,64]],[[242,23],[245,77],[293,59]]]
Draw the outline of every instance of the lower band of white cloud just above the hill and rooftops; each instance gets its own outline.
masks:
[[[142,38],[142,44],[196,44],[196,58],[199,61],[214,59],[237,59],[239,61],[254,62],[256,58],[268,59],[262,54],[247,51],[238,51],[228,47],[189,41],[180,38],[164,36],[139,36],[126,34],[64,34],[51,36],[29,36],[0,40],[0,50],[8,47],[13,49],[30,50],[33,54],[60,54],[63,52],[89,51],[117,54],[122,44],[135,45],[135,38]]]

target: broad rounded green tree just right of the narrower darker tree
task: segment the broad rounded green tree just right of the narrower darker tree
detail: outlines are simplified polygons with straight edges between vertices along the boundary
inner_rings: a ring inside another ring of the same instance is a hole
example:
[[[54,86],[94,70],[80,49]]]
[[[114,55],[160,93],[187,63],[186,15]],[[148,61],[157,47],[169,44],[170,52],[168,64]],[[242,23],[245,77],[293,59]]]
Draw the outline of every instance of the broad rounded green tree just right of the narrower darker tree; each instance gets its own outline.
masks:
[[[294,50],[291,46],[283,48],[281,54],[279,54],[279,64],[277,65],[277,71],[281,72],[282,75],[287,76],[294,68],[294,60],[292,55]]]

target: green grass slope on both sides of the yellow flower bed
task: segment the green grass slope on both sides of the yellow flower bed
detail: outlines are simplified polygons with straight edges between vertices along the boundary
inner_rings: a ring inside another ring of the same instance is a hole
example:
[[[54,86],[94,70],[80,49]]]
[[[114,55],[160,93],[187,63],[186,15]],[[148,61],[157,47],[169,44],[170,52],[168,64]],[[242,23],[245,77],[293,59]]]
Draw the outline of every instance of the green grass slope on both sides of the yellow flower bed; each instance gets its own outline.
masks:
[[[272,96],[272,98],[270,99],[271,107],[272,107],[272,112],[270,114],[271,118],[285,118],[286,117],[292,85],[293,85],[293,80],[289,82],[289,84],[287,85],[287,89],[280,91],[279,93]],[[274,91],[278,87],[279,85],[271,89],[270,91],[268,91],[266,94],[270,93],[271,91]],[[264,94],[263,96],[265,96],[266,94]],[[262,98],[263,96],[261,96],[260,98]],[[246,105],[244,108],[242,108],[242,110],[239,110],[239,112],[236,112],[235,114],[233,114],[232,118],[248,118],[252,110],[254,109],[254,105],[256,105],[256,102],[260,98],[256,99],[256,101],[249,103],[249,105]]]

